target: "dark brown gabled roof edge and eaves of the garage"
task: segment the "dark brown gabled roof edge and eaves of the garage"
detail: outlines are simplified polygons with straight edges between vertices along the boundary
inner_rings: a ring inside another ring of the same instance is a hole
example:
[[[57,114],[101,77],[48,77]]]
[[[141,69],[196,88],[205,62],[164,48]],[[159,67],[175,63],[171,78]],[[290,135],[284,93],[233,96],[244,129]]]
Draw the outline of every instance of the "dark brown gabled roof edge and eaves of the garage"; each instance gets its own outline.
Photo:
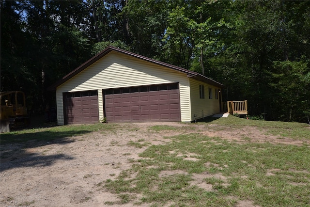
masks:
[[[218,87],[223,87],[223,85],[215,80],[209,79],[197,72],[191,71],[191,70],[186,70],[185,68],[182,67],[178,67],[172,64],[167,64],[167,63],[163,63],[161,61],[157,61],[151,58],[147,58],[145,56],[133,53],[133,52],[129,52],[126,51],[124,49],[120,49],[120,48],[115,48],[112,46],[109,46],[108,48],[105,48],[103,51],[101,51],[100,53],[96,54],[95,56],[93,56],[91,59],[89,59],[88,61],[86,61],[85,63],[81,64],[80,66],[78,66],[75,70],[71,71],[69,74],[65,75],[61,80],[59,80],[58,82],[56,82],[55,84],[51,85],[50,87],[48,87],[47,90],[56,90],[56,88],[58,86],[60,86],[62,83],[64,83],[65,81],[71,79],[72,77],[74,77],[75,75],[77,75],[79,72],[81,72],[82,70],[86,69],[87,67],[89,67],[90,65],[92,65],[93,63],[95,63],[96,61],[98,61],[99,59],[101,59],[102,57],[104,57],[105,55],[109,54],[109,52],[111,51],[116,51],[116,52],[120,52],[123,53],[125,55],[130,55],[132,57],[138,58],[140,60],[144,60],[153,64],[158,64],[164,67],[168,67],[171,68],[173,70],[177,70],[180,71],[182,73],[185,73],[187,75],[188,78],[193,78],[196,80],[200,80],[202,82],[205,83],[209,83],[211,85],[215,85]]]

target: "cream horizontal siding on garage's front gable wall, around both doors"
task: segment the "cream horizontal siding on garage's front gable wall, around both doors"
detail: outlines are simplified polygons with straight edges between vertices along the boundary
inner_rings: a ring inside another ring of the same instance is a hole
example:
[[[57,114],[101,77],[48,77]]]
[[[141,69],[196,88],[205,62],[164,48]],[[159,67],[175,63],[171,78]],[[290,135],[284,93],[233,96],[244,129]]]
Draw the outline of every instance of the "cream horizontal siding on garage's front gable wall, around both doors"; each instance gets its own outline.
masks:
[[[103,119],[102,89],[179,82],[181,121],[191,121],[189,81],[185,73],[111,51],[57,87],[58,124],[63,125],[63,92],[98,90],[99,119]]]

